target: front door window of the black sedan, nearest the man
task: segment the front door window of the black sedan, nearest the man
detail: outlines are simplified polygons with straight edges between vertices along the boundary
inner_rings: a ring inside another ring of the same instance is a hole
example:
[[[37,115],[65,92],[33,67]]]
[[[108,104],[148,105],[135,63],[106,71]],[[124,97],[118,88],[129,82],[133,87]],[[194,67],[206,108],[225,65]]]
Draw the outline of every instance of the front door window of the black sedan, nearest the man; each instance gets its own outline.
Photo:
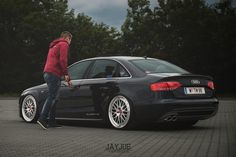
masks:
[[[71,80],[82,79],[91,62],[84,61],[72,65],[68,70]]]

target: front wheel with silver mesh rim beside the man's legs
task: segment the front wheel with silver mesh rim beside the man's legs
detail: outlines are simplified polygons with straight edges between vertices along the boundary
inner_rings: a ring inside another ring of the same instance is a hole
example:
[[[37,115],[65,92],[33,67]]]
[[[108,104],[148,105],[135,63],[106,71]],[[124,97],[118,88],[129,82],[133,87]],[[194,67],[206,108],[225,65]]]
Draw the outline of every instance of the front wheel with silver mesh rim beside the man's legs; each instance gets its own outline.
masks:
[[[36,122],[38,119],[38,106],[34,96],[27,95],[21,103],[22,119],[27,123]]]

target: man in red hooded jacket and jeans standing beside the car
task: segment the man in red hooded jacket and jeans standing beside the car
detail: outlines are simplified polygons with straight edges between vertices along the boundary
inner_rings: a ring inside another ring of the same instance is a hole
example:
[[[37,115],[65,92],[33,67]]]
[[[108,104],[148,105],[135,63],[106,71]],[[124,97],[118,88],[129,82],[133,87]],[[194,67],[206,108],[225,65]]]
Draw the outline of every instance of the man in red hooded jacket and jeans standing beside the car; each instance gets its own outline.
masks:
[[[72,34],[68,31],[61,33],[61,37],[50,43],[47,61],[44,67],[44,80],[48,86],[48,97],[43,105],[37,123],[43,128],[58,127],[55,120],[56,102],[61,77],[64,77],[68,86],[71,86],[70,77],[67,71],[68,51]],[[47,119],[49,117],[49,119]]]

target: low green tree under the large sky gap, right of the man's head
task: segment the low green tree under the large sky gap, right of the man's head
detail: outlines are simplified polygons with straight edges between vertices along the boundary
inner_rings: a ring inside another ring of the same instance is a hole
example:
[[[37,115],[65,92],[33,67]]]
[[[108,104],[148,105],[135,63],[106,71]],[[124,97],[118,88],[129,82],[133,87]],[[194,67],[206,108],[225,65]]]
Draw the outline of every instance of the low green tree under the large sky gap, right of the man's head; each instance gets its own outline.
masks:
[[[74,21],[73,61],[88,57],[119,54],[120,33],[104,23],[94,23],[91,17],[78,14]]]

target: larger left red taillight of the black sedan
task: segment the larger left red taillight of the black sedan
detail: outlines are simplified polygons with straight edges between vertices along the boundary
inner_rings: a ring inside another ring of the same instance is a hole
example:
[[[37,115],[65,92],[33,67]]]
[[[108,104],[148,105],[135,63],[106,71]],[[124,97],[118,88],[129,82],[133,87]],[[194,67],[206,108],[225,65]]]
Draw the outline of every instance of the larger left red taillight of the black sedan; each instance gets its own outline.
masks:
[[[156,91],[170,91],[175,90],[179,87],[181,87],[182,84],[179,82],[157,82],[150,85],[150,89],[153,92]]]

